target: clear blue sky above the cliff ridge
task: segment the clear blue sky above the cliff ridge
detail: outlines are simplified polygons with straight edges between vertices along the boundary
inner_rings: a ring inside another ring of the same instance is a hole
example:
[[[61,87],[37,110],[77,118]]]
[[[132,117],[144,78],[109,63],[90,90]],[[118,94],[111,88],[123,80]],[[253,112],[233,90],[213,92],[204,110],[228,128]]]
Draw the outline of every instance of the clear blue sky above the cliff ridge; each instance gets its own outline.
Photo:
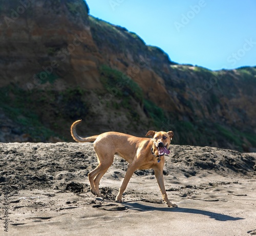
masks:
[[[209,69],[256,65],[255,0],[86,0],[90,14],[125,27],[172,61]]]

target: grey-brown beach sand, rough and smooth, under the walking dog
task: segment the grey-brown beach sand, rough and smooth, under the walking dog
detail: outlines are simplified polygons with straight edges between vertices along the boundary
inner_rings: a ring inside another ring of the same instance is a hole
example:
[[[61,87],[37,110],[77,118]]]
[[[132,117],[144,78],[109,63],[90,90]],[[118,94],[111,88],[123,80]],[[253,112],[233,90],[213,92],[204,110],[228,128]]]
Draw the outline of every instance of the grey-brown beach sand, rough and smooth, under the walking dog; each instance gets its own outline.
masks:
[[[90,193],[91,143],[0,144],[0,235],[253,235],[256,155],[172,145],[163,203],[153,170],[136,171],[115,202],[127,162],[116,156]],[[8,220],[8,221],[7,221]],[[6,232],[6,231],[8,232]]]

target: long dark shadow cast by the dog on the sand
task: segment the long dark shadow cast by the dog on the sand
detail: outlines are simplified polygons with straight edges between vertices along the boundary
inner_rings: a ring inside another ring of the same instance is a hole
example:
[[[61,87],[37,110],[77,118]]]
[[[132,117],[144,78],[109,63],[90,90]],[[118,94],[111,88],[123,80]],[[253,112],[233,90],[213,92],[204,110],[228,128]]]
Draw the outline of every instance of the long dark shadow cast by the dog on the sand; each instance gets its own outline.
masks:
[[[143,204],[140,204],[138,202],[123,202],[123,205],[125,205],[129,209],[138,210],[138,211],[167,211],[167,212],[177,212],[177,213],[186,213],[186,214],[199,214],[208,216],[210,219],[215,219],[217,221],[237,221],[237,220],[244,220],[244,218],[240,217],[231,217],[219,213],[214,213],[212,211],[207,210],[199,210],[199,209],[193,209],[193,208],[183,208],[183,207],[176,207],[176,208],[169,208],[169,207],[154,207],[154,206],[146,206]]]

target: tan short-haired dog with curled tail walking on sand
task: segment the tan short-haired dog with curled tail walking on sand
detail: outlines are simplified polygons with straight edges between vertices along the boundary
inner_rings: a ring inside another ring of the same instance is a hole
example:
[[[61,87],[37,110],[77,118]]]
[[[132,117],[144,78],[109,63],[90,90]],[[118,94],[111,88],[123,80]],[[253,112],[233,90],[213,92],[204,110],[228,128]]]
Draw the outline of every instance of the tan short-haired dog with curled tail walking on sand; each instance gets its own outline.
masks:
[[[164,154],[170,153],[168,146],[174,136],[173,131],[148,131],[146,136],[152,136],[153,139],[135,137],[117,132],[106,132],[83,138],[77,135],[75,129],[76,125],[80,122],[81,120],[72,124],[71,135],[78,142],[94,141],[94,150],[97,154],[99,164],[97,168],[88,174],[91,192],[94,195],[101,197],[99,181],[113,163],[114,155],[118,154],[129,162],[129,165],[116,197],[117,202],[122,202],[122,194],[136,170],[154,169],[164,202],[169,207],[177,207],[176,204],[168,200],[163,181]]]

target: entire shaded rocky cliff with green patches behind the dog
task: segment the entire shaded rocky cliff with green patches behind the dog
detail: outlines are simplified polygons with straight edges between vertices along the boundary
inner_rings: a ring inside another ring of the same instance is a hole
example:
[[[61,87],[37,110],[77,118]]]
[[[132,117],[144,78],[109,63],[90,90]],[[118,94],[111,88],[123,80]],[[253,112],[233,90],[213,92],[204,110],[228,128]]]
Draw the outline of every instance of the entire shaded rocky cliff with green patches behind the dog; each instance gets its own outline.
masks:
[[[179,65],[82,0],[0,0],[2,141],[173,130],[175,143],[256,147],[256,67]]]

